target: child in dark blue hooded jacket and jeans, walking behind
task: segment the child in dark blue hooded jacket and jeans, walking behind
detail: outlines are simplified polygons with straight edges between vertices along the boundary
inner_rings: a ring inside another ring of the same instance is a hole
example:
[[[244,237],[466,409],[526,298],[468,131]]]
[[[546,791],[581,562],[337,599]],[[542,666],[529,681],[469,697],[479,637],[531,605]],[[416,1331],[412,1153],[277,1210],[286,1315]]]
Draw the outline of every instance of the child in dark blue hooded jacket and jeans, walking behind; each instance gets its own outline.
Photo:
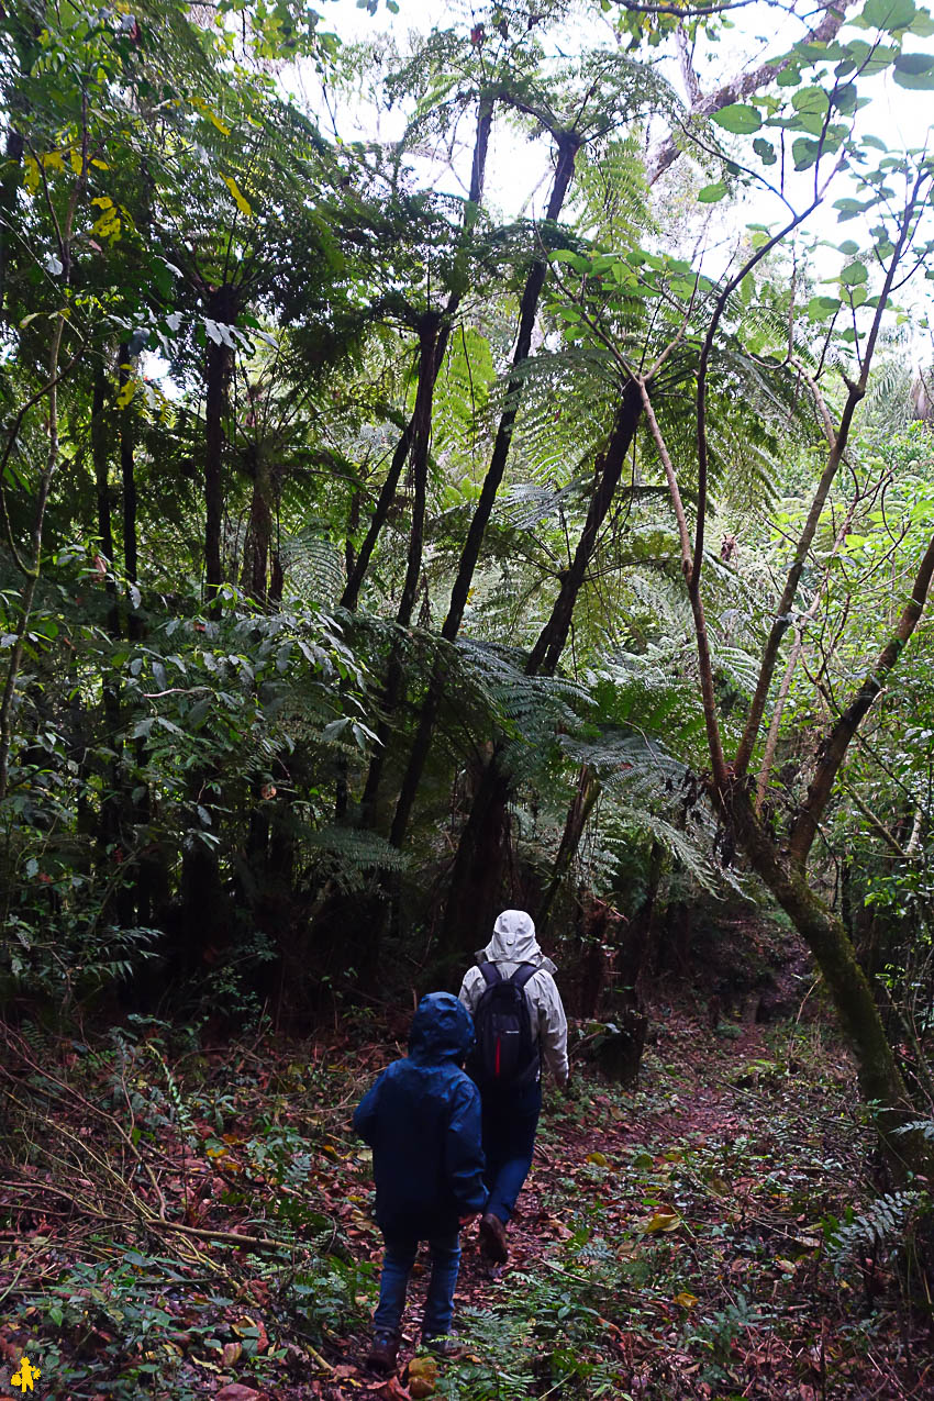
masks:
[[[480,1096],[461,1066],[473,1045],[473,1021],[448,992],[419,1003],[409,1055],[393,1061],[353,1117],[372,1147],[377,1224],[385,1241],[379,1303],[367,1366],[392,1372],[399,1323],[419,1241],[427,1240],[431,1279],[421,1341],[454,1351],[451,1314],[461,1262],[459,1227],[486,1205],[480,1147]]]

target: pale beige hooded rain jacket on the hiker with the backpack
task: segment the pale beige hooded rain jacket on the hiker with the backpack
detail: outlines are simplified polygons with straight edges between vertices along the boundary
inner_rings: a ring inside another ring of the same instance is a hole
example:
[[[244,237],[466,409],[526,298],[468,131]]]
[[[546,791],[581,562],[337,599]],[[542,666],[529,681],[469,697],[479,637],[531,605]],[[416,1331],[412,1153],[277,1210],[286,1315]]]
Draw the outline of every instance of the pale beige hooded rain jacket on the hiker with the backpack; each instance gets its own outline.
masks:
[[[546,958],[535,937],[535,925],[524,909],[504,909],[493,926],[493,937],[486,948],[478,950],[478,961],[489,958],[503,978],[510,978],[520,964],[535,964],[536,972],[525,984],[525,998],[529,1005],[532,1035],[542,1048],[542,1055],[559,1084],[567,1080],[567,1017],[562,1006],[562,995],[555,984],[557,971]],[[459,998],[471,1016],[486,988],[479,968],[468,968],[461,984]]]

